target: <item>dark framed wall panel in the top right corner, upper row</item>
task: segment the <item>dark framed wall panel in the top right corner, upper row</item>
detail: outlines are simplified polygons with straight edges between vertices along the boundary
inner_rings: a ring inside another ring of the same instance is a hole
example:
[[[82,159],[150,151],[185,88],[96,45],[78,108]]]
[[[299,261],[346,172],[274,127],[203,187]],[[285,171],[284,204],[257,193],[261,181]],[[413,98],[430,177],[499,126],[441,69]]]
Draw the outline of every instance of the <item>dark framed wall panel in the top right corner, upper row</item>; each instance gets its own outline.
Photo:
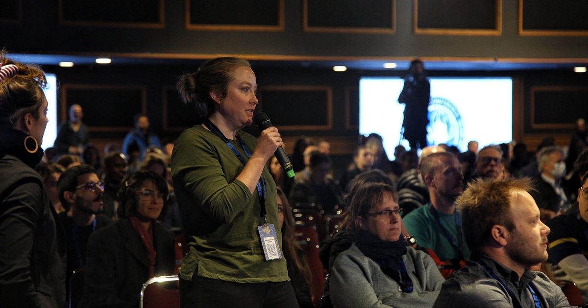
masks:
[[[519,0],[519,33],[588,36],[587,12],[585,0]]]

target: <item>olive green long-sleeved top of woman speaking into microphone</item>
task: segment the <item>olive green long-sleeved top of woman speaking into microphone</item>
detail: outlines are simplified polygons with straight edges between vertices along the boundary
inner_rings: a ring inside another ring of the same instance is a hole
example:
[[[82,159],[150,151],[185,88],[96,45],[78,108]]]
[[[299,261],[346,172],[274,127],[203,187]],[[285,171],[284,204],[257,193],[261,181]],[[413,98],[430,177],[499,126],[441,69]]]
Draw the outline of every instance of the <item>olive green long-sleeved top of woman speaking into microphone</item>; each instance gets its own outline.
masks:
[[[243,131],[238,135],[251,153],[257,143]],[[247,161],[238,140],[230,143]],[[192,275],[231,282],[287,281],[286,260],[266,261],[257,226],[263,225],[257,192],[251,194],[236,177],[245,165],[219,136],[202,126],[183,131],[173,147],[172,177],[182,224],[190,238],[189,252],[183,258],[179,276]],[[268,224],[273,224],[280,249],[276,184],[267,168]]]

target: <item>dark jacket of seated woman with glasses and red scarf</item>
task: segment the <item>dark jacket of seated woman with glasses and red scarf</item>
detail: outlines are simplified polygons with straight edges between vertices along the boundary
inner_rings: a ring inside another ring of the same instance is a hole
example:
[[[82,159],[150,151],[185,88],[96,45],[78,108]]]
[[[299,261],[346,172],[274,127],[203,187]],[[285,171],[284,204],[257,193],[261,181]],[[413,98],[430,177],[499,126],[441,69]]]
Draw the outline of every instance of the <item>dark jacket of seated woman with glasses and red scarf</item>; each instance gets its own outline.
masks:
[[[172,275],[175,268],[173,234],[153,224],[157,252],[155,276]],[[131,221],[119,219],[92,232],[86,255],[85,287],[78,307],[139,306],[141,287],[149,279],[146,249]]]

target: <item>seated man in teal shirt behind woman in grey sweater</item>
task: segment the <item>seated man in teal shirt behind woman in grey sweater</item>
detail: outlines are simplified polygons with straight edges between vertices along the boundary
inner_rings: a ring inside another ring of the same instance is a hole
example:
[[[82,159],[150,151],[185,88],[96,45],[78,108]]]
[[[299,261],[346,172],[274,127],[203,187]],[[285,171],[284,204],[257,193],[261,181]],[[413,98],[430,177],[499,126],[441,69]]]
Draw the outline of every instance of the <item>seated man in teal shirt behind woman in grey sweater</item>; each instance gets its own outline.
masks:
[[[418,245],[434,252],[429,253],[447,277],[470,256],[455,208],[455,199],[463,192],[462,165],[452,153],[433,153],[421,161],[420,174],[429,190],[430,202],[403,220]]]

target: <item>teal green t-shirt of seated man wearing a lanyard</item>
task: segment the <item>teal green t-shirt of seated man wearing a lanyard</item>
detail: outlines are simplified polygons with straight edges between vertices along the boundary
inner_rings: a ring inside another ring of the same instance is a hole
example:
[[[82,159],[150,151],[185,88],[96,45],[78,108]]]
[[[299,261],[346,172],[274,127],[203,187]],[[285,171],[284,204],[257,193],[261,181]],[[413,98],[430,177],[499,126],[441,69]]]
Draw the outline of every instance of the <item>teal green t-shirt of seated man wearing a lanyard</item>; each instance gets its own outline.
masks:
[[[417,245],[431,249],[437,254],[440,260],[445,261],[459,258],[459,253],[457,253],[457,250],[445,236],[445,232],[443,232],[439,222],[437,222],[435,215],[429,210],[429,205],[425,204],[415,209],[415,211],[410,212],[402,219],[406,225],[406,229],[410,235],[415,237]],[[459,215],[457,211],[453,214],[439,212],[439,220],[449,234],[454,239],[457,239],[455,215]],[[470,251],[467,249],[463,236],[462,243],[463,257],[467,260],[470,258]]]

